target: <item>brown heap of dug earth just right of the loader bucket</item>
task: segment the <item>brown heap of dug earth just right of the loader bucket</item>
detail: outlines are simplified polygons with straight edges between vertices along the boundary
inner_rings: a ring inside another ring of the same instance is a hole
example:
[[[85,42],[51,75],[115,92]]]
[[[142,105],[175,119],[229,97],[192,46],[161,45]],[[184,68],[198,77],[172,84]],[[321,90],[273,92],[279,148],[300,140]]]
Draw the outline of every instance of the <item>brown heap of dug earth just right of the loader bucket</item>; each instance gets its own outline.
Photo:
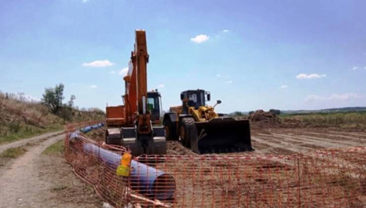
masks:
[[[253,127],[258,128],[275,128],[280,127],[281,123],[279,119],[271,112],[265,112],[263,110],[257,110],[249,115]]]

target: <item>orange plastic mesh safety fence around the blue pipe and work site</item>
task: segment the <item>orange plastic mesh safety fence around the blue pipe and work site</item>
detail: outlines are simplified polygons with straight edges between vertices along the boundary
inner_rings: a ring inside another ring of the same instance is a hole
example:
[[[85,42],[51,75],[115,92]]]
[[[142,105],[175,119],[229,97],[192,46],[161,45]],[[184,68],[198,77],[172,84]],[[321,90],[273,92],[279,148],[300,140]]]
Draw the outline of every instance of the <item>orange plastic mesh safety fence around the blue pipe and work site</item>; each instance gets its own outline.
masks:
[[[75,173],[115,207],[366,206],[365,147],[294,155],[143,155],[132,160],[129,176],[116,174],[124,147],[72,131],[65,147]]]

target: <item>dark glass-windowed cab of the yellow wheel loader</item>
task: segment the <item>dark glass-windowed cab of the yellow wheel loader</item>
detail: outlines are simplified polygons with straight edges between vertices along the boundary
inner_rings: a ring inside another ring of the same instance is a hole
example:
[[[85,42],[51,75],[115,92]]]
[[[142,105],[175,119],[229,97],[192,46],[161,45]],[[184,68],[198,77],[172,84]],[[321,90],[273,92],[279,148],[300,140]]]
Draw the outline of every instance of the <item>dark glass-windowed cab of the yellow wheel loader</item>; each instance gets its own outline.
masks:
[[[207,96],[207,99],[206,99]],[[181,92],[181,100],[183,106],[183,114],[188,113],[188,108],[185,103],[189,107],[194,107],[194,109],[198,109],[200,106],[205,106],[205,101],[210,101],[211,94],[209,91],[205,91],[203,89],[197,90],[186,90]]]

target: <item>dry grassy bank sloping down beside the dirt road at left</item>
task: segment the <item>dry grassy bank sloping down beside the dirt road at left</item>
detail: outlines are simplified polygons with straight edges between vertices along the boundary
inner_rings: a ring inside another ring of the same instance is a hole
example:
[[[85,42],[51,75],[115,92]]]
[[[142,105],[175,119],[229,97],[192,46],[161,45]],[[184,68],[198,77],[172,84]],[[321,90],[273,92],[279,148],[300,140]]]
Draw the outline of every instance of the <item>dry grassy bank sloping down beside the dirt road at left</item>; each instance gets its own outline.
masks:
[[[60,130],[67,123],[104,118],[102,110],[79,110],[74,107],[55,115],[46,106],[22,93],[15,95],[0,92],[0,143]]]

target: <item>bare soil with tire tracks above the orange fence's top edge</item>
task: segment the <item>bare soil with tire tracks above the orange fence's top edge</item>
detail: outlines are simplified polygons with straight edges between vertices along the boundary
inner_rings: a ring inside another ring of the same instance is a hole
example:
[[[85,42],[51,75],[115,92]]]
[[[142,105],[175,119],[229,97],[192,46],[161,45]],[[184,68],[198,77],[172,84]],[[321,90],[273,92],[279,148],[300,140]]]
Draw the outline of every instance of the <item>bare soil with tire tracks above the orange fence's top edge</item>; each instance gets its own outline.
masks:
[[[95,141],[104,141],[105,128],[100,128],[87,136]],[[336,128],[268,128],[252,130],[252,146],[255,151],[243,155],[290,155],[306,153],[314,149],[366,146],[366,132],[340,131]],[[168,155],[195,155],[180,141],[167,141]],[[224,153],[225,154],[225,153]]]

